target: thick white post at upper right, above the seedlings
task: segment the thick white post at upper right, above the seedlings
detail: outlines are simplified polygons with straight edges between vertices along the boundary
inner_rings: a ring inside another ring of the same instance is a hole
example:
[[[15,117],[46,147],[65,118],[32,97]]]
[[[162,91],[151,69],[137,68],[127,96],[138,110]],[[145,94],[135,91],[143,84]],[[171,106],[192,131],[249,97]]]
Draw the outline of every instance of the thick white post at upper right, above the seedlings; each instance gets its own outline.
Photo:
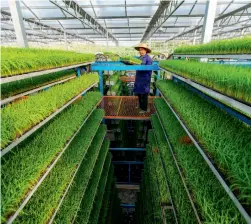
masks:
[[[207,1],[201,38],[203,44],[210,42],[212,39],[216,8],[217,0]]]

